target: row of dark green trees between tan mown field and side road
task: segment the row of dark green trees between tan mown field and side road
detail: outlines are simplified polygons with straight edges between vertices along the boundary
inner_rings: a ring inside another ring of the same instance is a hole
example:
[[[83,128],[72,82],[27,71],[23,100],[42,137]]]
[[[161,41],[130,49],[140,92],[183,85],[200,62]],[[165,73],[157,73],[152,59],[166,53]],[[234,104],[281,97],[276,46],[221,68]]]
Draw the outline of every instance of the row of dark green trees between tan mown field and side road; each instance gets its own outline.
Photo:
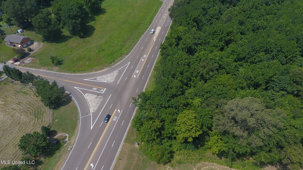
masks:
[[[3,66],[3,71],[7,77],[13,80],[21,81],[25,84],[32,83],[35,86],[35,92],[41,97],[43,104],[50,109],[57,109],[65,97],[64,87],[59,87],[56,81],[50,84],[48,80],[40,76],[36,77],[28,71],[22,73],[20,70],[11,68],[8,65]]]

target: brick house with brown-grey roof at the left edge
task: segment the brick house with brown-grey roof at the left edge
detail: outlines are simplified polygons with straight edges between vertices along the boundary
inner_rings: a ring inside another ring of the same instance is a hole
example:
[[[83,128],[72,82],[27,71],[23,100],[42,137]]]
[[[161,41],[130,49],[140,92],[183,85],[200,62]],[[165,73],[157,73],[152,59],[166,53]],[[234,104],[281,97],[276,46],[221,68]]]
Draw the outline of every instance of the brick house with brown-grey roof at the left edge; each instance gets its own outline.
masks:
[[[29,37],[25,37],[23,35],[7,35],[4,40],[7,46],[14,47],[17,46],[19,48],[26,48],[27,46],[31,45],[31,40]]]

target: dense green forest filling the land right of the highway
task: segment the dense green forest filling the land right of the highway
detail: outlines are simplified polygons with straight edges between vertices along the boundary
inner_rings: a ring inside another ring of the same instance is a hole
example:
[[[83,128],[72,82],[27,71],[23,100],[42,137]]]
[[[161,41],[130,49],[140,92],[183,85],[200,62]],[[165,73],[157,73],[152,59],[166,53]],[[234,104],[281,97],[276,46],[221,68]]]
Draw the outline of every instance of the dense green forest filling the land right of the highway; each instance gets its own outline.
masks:
[[[231,167],[303,168],[303,1],[175,0],[169,11],[155,85],[134,99],[139,149],[162,164],[199,150]]]

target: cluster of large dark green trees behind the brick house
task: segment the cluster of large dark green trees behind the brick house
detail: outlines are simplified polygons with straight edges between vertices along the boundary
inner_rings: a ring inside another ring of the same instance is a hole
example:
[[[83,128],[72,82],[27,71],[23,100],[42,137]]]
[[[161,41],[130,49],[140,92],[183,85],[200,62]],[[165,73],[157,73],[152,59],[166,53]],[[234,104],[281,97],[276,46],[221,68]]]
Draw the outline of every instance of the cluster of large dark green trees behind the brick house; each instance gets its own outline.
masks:
[[[71,35],[86,33],[89,16],[101,10],[101,0],[3,0],[0,18],[20,27],[33,25],[43,41],[57,40],[64,27]],[[44,9],[51,6],[52,11]],[[42,8],[43,7],[43,8]]]

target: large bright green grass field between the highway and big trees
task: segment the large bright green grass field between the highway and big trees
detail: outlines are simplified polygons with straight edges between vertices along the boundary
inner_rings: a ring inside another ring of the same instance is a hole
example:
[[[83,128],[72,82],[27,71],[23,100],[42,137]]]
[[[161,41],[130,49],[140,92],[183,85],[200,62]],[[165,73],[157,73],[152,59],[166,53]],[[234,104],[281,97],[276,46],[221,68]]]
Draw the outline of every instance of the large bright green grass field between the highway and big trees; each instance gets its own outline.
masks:
[[[62,38],[44,42],[42,49],[33,54],[36,60],[28,66],[52,69],[50,55],[59,55],[63,60],[59,71],[100,70],[104,68],[103,59],[105,66],[115,64],[135,46],[161,4],[159,0],[104,0],[100,14],[90,18],[84,40],[63,29]]]

